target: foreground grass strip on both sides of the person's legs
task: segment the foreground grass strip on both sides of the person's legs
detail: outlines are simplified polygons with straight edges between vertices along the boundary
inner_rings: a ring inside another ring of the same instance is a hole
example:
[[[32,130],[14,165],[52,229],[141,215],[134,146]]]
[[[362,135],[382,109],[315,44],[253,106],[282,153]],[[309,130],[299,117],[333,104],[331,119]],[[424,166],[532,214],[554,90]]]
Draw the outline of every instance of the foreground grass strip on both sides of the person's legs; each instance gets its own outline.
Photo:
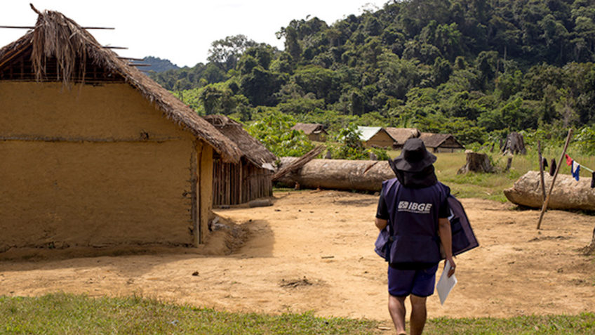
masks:
[[[313,313],[228,313],[138,296],[0,296],[0,334],[387,334],[379,324]],[[440,317],[428,320],[424,334],[595,334],[595,314]]]

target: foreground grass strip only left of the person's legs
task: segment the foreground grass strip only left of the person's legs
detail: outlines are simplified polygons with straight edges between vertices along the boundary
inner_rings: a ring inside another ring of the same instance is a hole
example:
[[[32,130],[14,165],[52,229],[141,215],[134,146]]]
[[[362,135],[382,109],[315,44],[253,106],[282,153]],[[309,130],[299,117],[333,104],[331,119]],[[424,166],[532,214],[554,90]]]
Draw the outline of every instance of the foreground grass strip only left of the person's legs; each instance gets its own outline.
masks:
[[[0,296],[0,334],[375,334],[377,322],[228,313],[154,299]]]

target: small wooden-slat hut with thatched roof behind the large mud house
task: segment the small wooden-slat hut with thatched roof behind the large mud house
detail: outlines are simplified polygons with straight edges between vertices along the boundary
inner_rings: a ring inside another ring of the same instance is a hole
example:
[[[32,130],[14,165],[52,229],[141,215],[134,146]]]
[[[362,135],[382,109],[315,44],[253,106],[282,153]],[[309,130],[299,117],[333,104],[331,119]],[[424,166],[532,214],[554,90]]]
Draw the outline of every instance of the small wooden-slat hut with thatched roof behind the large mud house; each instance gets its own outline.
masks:
[[[250,136],[239,122],[223,115],[204,117],[241,150],[238,163],[227,163],[215,152],[213,206],[234,205],[273,195],[271,176],[275,155]]]

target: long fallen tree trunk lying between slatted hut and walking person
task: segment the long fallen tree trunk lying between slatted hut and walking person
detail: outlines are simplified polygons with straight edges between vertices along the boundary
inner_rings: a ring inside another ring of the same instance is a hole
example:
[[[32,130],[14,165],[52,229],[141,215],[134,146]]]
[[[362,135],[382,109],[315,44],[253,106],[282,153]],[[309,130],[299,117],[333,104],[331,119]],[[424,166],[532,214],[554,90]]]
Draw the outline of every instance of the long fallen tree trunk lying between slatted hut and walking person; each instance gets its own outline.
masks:
[[[281,157],[280,169],[295,157]],[[394,178],[387,161],[352,161],[346,159],[312,159],[301,169],[279,179],[285,185],[300,188],[380,191],[382,181]]]

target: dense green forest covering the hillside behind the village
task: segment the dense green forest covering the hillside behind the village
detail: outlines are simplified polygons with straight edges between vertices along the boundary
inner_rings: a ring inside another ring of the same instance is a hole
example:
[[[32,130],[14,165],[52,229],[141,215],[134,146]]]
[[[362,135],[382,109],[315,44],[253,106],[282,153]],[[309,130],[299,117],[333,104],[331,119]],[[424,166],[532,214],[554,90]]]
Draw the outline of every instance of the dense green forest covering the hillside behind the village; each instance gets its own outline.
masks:
[[[595,151],[594,1],[389,1],[277,36],[284,51],[238,35],[213,41],[206,64],[150,75],[200,114],[244,122],[408,126],[480,145],[573,127]]]

